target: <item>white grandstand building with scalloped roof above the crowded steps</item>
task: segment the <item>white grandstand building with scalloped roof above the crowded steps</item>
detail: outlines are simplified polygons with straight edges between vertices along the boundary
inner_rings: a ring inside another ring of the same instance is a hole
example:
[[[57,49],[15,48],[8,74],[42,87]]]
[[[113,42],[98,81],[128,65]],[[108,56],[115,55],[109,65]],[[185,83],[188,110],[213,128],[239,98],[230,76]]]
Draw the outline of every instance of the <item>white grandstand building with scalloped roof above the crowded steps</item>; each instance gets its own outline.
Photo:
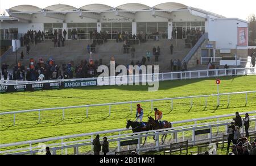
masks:
[[[68,5],[52,5],[44,9],[20,5],[6,11],[10,17],[1,17],[1,39],[10,39],[11,34],[25,34],[28,30],[44,31],[47,39],[49,34],[65,30],[67,40],[71,40],[71,33],[76,29],[81,40],[89,40],[91,31],[106,32],[108,39],[113,40],[119,32],[146,34],[147,39],[154,39],[158,32],[160,40],[171,40],[174,44],[183,41],[185,44],[190,38],[189,32],[200,31],[204,33],[200,43],[182,55],[177,53],[189,67],[199,65],[201,57],[248,55],[248,22],[180,3],[162,3],[154,7],[139,3],[118,7],[92,4],[79,9]],[[170,47],[168,44],[166,47]]]

